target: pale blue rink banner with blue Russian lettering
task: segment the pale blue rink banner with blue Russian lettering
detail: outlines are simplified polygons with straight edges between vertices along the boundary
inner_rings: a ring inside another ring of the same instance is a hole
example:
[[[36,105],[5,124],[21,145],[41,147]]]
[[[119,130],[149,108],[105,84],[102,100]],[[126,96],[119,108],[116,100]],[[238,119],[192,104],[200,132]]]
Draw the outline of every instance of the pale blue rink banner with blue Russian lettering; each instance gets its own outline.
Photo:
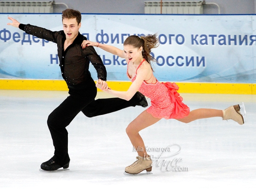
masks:
[[[56,44],[7,26],[8,16],[52,31],[62,29],[61,14],[0,14],[0,77],[61,80]],[[89,40],[120,49],[129,35],[157,33],[160,46],[152,50],[152,55],[158,61],[154,63],[158,80],[201,85],[237,83],[252,92],[256,83],[255,18],[255,15],[82,14],[80,33]],[[123,59],[99,48],[96,51],[105,63],[108,80],[128,81]],[[92,65],[90,72],[96,80]]]

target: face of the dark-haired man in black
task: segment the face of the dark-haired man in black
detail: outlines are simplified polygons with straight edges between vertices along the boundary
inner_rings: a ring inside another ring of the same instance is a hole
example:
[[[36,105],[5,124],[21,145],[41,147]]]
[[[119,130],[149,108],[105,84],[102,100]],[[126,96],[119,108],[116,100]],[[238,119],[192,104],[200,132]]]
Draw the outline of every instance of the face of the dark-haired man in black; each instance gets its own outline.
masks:
[[[79,28],[81,27],[81,23],[78,24],[76,18],[64,18],[62,23],[67,40],[75,40],[78,35]]]

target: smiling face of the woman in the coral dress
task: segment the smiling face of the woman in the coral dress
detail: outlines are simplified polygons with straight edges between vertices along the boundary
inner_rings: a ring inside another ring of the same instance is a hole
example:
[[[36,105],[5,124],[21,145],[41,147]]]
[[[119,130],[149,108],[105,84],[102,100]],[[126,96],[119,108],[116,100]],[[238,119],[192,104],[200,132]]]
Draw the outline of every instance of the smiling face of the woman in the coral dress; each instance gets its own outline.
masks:
[[[130,62],[141,61],[142,59],[142,47],[136,48],[132,45],[124,45],[125,56]]]

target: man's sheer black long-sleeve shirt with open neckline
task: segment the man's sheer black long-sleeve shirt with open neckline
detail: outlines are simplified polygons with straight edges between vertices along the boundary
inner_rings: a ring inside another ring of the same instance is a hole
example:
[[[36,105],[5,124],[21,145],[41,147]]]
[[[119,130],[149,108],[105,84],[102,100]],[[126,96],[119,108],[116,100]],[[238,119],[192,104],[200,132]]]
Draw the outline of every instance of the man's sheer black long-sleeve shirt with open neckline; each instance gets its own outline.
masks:
[[[81,43],[83,40],[87,39],[80,33],[73,43],[64,51],[66,35],[63,30],[50,31],[30,24],[20,24],[19,28],[27,34],[32,34],[38,38],[57,43],[61,74],[68,86],[80,87],[86,83],[91,77],[89,72],[90,62],[96,69],[98,78],[101,80],[107,79],[106,68],[95,49],[92,46],[87,46],[85,49],[81,48]]]

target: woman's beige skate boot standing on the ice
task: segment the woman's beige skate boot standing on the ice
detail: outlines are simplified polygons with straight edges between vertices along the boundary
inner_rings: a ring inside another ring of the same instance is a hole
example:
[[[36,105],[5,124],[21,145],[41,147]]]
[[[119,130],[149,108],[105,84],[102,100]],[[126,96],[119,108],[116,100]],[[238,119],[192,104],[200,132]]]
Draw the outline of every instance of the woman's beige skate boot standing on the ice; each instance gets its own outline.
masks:
[[[143,157],[136,157],[137,161],[135,161],[130,166],[125,167],[124,175],[149,175],[152,174],[152,160],[150,158],[150,155],[147,155],[145,158]],[[146,170],[147,173],[140,173],[142,171]],[[140,174],[138,174],[140,173]]]

